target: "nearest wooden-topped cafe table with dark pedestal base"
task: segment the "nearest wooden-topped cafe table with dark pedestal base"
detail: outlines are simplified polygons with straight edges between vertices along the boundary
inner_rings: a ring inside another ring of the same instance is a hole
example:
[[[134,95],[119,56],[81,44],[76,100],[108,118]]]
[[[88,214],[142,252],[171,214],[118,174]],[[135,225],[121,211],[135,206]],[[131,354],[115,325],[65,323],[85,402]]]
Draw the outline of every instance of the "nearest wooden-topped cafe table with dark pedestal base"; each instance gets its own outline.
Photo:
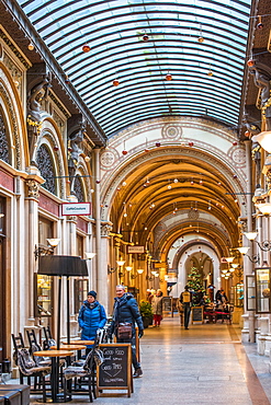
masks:
[[[50,393],[53,402],[65,402],[66,398],[59,395],[59,381],[58,381],[58,362],[59,357],[70,357],[74,355],[70,350],[39,350],[34,351],[34,356],[52,358],[52,374],[50,374]]]

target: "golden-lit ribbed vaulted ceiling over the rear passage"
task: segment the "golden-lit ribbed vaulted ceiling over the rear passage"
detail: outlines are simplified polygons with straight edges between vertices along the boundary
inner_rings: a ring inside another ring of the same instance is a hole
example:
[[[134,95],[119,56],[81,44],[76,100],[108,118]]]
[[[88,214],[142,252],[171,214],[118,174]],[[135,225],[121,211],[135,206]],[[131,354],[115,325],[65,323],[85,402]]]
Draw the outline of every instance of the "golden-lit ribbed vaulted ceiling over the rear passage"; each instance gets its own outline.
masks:
[[[149,246],[156,258],[167,255],[178,238],[191,233],[208,241],[219,256],[227,256],[238,245],[237,222],[246,204],[241,193],[236,197],[234,176],[218,172],[204,153],[201,159],[191,153],[146,161],[116,189],[110,217],[113,231],[126,242]],[[161,227],[158,240],[157,225]]]

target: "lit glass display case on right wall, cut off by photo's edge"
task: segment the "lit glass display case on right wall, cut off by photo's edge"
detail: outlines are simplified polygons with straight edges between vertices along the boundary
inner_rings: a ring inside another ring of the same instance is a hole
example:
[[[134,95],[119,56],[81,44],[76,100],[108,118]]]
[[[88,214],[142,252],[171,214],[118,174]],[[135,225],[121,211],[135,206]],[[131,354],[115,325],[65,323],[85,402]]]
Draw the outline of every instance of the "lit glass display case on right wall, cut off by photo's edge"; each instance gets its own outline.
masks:
[[[270,269],[271,267],[258,267],[256,275],[256,312],[270,313]]]

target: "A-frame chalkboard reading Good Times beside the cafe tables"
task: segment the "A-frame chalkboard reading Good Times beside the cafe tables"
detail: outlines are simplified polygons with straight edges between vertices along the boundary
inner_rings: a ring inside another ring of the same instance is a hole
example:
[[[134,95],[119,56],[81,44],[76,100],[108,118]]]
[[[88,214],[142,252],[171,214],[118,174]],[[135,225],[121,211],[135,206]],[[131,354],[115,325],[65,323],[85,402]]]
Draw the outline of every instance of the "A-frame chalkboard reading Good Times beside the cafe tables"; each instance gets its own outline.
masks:
[[[99,345],[104,362],[98,368],[97,391],[127,390],[133,392],[131,344]]]

